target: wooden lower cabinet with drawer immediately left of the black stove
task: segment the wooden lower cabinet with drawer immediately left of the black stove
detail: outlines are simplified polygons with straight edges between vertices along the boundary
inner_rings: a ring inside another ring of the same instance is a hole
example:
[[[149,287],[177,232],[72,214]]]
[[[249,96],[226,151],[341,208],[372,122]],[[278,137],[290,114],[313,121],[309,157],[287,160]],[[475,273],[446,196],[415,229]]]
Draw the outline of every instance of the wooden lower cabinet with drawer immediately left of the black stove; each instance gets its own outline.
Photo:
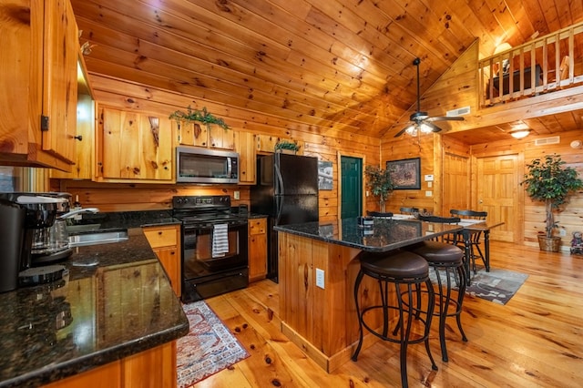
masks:
[[[172,290],[181,292],[180,226],[146,227],[144,234],[169,276]]]

